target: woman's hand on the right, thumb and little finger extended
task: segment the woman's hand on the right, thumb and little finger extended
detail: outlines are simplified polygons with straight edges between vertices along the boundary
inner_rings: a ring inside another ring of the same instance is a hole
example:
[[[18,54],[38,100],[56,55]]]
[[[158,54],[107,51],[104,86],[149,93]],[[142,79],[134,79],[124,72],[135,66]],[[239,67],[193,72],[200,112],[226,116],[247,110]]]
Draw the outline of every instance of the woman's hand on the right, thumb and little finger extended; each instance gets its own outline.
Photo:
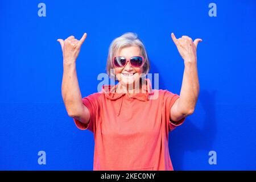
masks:
[[[182,36],[176,39],[174,33],[171,34],[180,56],[184,59],[184,63],[196,63],[196,48],[202,39],[195,39],[194,41],[189,36]]]

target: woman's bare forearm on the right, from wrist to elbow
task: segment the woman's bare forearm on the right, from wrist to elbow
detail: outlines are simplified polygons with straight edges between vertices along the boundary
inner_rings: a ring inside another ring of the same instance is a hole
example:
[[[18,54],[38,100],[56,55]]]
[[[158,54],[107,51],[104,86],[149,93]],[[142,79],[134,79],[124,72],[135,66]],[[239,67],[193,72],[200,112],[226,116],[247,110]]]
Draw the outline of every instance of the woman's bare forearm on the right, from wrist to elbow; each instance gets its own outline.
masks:
[[[180,90],[178,109],[184,114],[192,114],[195,110],[197,98],[199,96],[199,78],[197,74],[196,61],[184,61],[185,68],[183,81]]]

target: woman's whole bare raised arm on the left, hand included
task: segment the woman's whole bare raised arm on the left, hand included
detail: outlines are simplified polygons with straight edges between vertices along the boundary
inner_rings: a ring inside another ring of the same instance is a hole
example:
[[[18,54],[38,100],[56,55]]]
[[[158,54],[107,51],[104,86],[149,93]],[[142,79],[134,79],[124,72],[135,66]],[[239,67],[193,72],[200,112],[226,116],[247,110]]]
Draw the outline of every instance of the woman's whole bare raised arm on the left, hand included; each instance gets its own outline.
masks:
[[[85,38],[86,34],[80,40],[75,39],[74,36],[69,36],[65,40],[57,39],[63,51],[63,80],[61,85],[63,101],[68,115],[82,123],[89,122],[90,113],[87,107],[82,104],[76,73],[76,59]]]

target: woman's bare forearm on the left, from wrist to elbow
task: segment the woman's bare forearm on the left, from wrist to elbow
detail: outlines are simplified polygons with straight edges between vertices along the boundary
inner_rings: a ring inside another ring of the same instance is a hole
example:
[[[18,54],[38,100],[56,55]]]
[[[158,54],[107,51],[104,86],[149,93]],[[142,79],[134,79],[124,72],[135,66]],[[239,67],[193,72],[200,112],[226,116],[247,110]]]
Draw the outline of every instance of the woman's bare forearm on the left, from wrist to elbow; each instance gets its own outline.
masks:
[[[63,80],[61,85],[61,94],[68,115],[73,116],[76,113],[82,113],[82,97],[77,80],[76,63],[63,63]]]

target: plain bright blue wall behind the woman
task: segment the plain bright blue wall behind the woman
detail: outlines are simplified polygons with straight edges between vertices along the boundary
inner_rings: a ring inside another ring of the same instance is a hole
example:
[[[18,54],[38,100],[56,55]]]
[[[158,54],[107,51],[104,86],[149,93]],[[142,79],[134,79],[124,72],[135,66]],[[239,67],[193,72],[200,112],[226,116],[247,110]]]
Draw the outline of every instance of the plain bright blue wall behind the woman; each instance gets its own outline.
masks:
[[[82,97],[97,92],[110,43],[136,32],[159,73],[160,88],[180,93],[184,63],[171,39],[202,38],[195,113],[169,136],[176,170],[256,169],[256,2],[1,1],[0,169],[92,170],[94,140],[76,128],[61,97],[57,38],[88,36],[77,60]],[[209,3],[217,5],[210,17]],[[210,165],[209,151],[217,152]],[[46,151],[46,165],[38,152]]]

